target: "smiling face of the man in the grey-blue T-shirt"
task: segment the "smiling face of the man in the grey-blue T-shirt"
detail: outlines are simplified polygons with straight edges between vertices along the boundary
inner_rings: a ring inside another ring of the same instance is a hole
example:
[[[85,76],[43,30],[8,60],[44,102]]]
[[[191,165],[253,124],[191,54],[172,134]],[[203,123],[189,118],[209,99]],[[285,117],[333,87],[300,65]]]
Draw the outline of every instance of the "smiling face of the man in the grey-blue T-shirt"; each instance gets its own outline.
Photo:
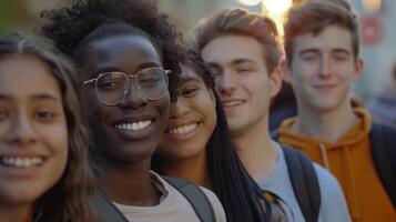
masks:
[[[231,133],[243,134],[261,123],[267,128],[270,98],[277,93],[280,78],[270,77],[262,44],[252,37],[222,36],[201,56],[214,74]]]

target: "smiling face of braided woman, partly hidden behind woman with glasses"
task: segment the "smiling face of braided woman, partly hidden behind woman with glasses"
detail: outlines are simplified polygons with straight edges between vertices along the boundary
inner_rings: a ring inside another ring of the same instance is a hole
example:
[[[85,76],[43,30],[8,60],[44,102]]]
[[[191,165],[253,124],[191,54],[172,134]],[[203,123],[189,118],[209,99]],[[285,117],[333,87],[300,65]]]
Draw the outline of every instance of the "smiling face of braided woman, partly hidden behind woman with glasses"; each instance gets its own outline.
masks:
[[[216,124],[215,99],[201,77],[182,67],[177,101],[171,107],[170,122],[162,137],[159,154],[184,159],[205,151]]]

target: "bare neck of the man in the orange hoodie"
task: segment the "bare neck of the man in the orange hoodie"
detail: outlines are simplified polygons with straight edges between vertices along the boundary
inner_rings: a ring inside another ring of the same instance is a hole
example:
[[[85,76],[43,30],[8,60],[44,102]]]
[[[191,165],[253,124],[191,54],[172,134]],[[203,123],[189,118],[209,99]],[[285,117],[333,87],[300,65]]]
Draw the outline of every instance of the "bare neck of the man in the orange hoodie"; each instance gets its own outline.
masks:
[[[298,117],[291,131],[308,138],[335,143],[358,121],[351,103],[346,101],[336,109],[317,112],[298,107]]]

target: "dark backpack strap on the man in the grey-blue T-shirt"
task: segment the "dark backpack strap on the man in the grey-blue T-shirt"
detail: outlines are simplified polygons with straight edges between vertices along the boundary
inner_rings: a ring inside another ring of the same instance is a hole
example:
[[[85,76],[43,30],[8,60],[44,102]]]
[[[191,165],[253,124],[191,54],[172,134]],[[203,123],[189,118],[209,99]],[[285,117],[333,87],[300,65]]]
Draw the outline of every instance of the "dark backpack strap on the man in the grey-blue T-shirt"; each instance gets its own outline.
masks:
[[[321,189],[312,161],[301,151],[283,147],[288,175],[305,221],[317,222]]]

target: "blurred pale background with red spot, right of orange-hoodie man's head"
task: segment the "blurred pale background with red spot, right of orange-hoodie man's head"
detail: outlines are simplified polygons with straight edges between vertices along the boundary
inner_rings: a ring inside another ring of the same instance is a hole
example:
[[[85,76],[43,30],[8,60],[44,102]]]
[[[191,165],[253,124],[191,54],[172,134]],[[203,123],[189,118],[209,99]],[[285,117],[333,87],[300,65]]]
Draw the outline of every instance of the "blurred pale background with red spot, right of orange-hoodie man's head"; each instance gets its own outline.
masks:
[[[354,91],[368,97],[393,85],[392,69],[396,61],[396,1],[352,0],[359,14],[363,77]]]

